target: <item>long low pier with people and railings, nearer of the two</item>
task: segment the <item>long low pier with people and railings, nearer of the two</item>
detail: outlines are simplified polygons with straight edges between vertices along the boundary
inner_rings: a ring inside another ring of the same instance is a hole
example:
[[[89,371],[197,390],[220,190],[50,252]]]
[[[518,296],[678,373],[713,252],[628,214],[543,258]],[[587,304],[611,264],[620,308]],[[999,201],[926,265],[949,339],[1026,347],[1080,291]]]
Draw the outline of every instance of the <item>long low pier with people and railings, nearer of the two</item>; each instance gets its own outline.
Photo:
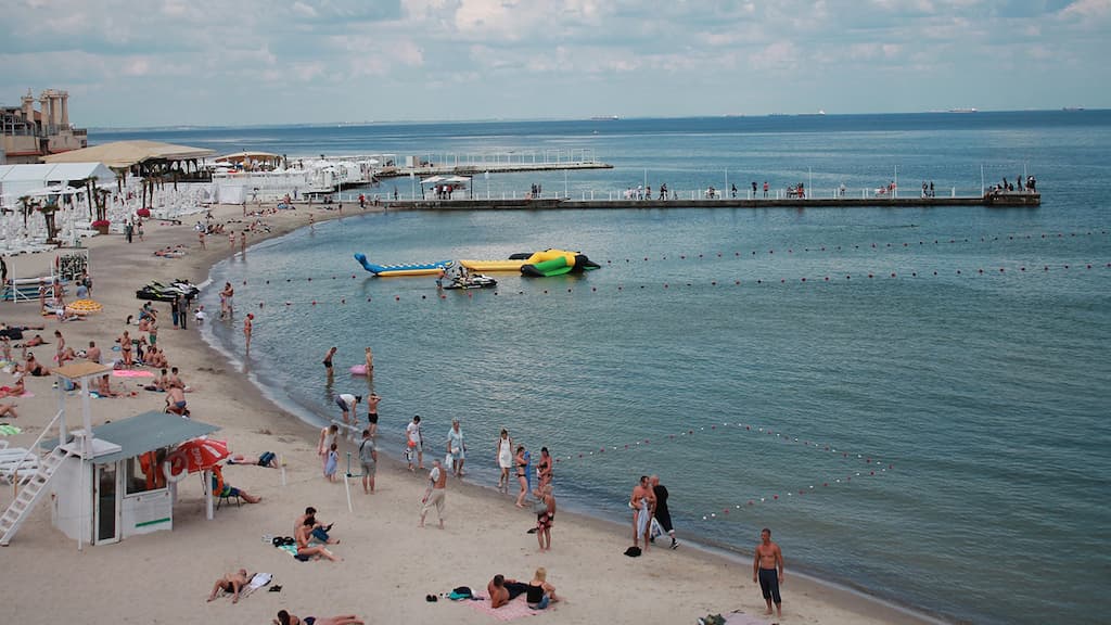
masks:
[[[719,199],[421,199],[382,200],[390,209],[400,210],[588,210],[588,209],[659,209],[659,208],[941,208],[998,207],[1022,208],[1041,206],[1041,194],[987,194],[958,197],[875,197],[875,198],[719,198]]]

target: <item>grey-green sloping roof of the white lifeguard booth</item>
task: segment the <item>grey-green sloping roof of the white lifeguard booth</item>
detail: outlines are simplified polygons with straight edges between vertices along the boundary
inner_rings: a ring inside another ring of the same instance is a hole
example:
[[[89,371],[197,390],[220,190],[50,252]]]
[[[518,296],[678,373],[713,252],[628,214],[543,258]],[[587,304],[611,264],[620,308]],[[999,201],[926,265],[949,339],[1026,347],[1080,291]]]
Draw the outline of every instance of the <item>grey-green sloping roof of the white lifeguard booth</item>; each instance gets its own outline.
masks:
[[[107,465],[124,458],[133,458],[147,452],[178,445],[220,429],[214,425],[186,419],[177,415],[152,410],[129,419],[106,423],[92,428],[92,436],[114,443],[119,452],[93,458],[98,465]],[[42,447],[53,449],[58,439],[43,440]]]

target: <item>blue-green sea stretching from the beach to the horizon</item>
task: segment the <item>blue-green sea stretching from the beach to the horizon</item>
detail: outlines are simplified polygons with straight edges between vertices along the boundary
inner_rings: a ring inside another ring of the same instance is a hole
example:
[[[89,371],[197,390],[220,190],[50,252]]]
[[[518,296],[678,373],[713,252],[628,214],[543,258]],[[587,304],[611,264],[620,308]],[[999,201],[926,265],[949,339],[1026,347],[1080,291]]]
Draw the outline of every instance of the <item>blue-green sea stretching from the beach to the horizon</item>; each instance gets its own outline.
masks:
[[[558,458],[560,506],[620,522],[641,475],[669,488],[680,540],[949,622],[1101,623],[1111,583],[1111,111],[371,123],[98,131],[221,152],[589,153],[612,169],[491,173],[690,197],[804,182],[860,197],[898,180],[977,195],[1034,176],[1037,208],[691,208],[362,214],[213,268],[234,320],[207,337],[306,420],[338,393],[382,396],[381,453],[451,419],[493,487],[501,428]],[[412,191],[408,178],[366,194]],[[356,190],[354,192],[359,192]],[[773,191],[774,192],[774,191]],[[493,289],[374,278],[378,264],[547,248],[601,267],[497,275]],[[216,288],[203,296],[219,308]],[[249,356],[241,319],[256,316]],[[324,351],[339,347],[328,379]],[[371,347],[372,378],[348,367]],[[364,413],[363,413],[364,418]],[[558,540],[558,525],[557,525]],[[617,557],[617,555],[614,556]],[[785,601],[790,602],[790,585]]]

